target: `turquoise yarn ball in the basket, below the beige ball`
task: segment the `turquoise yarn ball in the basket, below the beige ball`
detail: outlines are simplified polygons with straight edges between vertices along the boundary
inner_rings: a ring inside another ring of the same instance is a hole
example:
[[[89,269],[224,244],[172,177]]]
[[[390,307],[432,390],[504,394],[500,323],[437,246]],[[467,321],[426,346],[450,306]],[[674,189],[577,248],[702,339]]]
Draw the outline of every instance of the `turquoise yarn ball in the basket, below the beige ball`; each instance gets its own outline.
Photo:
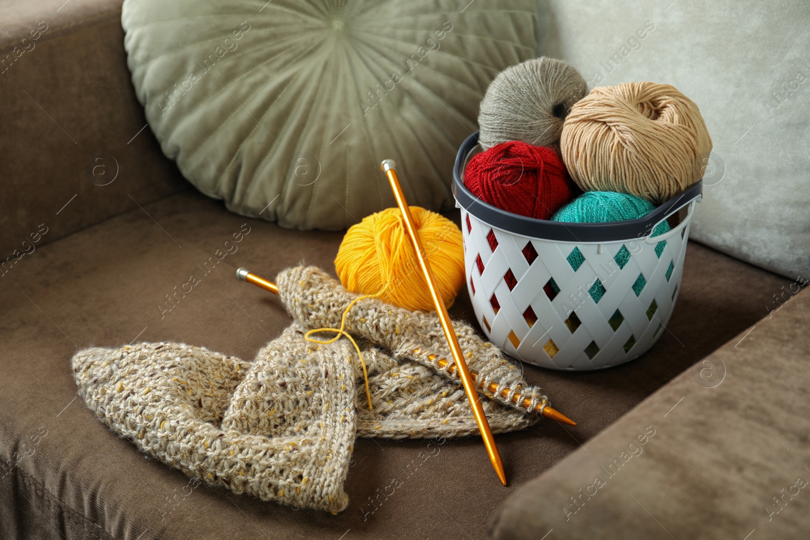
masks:
[[[562,221],[565,223],[609,223],[612,221],[626,221],[628,219],[638,219],[649,214],[655,206],[651,202],[630,195],[629,193],[616,193],[614,191],[587,191],[573,202],[563,206],[557,210],[556,214],[552,216],[552,221]],[[653,236],[658,236],[664,232],[669,231],[669,223],[663,221],[655,227]],[[666,240],[660,241],[655,245],[655,254],[661,257],[664,248],[667,247]],[[572,266],[580,266],[585,261],[582,254],[578,254],[577,258],[582,258],[581,261],[571,261]],[[629,259],[629,252],[626,253],[626,259]],[[573,253],[572,253],[573,255]],[[627,261],[623,261],[626,263]],[[624,266],[622,264],[621,266]],[[599,302],[605,293],[604,287],[597,284],[590,289],[590,296],[593,297],[595,302]]]

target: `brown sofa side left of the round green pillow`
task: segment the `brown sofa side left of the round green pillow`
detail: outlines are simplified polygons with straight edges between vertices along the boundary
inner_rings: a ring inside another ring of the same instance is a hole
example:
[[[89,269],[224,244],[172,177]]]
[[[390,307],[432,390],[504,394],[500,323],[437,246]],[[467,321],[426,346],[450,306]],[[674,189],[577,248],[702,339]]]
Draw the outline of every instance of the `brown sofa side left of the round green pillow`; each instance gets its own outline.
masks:
[[[121,4],[0,2],[0,279],[36,247],[187,189],[142,130]]]

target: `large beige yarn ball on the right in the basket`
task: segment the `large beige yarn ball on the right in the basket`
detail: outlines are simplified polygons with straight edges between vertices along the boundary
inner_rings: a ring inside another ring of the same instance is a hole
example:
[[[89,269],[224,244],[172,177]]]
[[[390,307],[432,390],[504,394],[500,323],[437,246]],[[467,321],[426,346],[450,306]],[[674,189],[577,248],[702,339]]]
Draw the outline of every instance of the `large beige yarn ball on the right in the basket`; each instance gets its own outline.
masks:
[[[668,84],[596,87],[565,118],[565,166],[584,191],[667,201],[699,181],[711,153],[700,110]]]

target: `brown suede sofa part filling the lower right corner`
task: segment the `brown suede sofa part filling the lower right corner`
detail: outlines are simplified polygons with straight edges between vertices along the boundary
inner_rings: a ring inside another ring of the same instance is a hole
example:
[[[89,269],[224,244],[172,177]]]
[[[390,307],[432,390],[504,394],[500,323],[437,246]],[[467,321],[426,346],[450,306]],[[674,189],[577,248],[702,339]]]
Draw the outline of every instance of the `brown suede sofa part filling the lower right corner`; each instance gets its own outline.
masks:
[[[801,291],[511,495],[493,538],[807,538],[808,326]]]

